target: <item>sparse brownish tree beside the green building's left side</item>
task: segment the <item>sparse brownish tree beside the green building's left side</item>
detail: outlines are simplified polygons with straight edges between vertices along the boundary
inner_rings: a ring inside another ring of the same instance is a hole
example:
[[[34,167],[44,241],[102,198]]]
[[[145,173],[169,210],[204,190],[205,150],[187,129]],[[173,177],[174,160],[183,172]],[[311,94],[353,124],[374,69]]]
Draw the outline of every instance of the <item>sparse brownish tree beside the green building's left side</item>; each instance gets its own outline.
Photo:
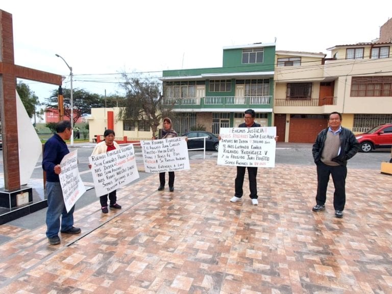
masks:
[[[163,105],[160,92],[161,84],[157,81],[130,78],[123,73],[125,79],[121,87],[126,91],[124,107],[120,108],[118,118],[122,120],[144,121],[157,132],[163,117],[170,116],[173,106]]]

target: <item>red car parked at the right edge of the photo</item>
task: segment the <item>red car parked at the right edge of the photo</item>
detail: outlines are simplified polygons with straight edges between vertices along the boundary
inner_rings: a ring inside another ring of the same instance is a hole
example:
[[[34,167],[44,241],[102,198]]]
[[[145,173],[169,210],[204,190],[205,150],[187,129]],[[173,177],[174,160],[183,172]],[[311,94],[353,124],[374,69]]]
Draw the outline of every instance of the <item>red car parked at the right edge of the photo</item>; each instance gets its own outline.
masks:
[[[383,124],[366,133],[355,135],[361,144],[360,151],[370,152],[374,149],[392,147],[392,124]]]

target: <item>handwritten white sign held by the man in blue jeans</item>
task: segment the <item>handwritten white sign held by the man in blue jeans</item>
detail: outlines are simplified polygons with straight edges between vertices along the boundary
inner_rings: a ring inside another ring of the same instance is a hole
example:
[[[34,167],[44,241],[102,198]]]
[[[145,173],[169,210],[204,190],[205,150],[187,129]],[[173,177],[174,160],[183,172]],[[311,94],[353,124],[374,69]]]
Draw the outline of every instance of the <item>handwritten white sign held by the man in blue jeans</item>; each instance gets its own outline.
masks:
[[[79,175],[78,150],[65,155],[60,162],[60,167],[60,185],[63,191],[65,209],[69,212],[77,200],[86,192],[86,187]]]

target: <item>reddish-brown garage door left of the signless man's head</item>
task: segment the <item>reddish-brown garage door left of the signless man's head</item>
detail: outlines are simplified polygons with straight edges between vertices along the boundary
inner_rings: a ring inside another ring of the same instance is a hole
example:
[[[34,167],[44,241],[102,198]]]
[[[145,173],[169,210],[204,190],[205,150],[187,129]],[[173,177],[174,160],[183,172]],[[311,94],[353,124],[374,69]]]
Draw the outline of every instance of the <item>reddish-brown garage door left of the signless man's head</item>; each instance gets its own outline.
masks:
[[[317,134],[327,128],[325,118],[290,118],[289,142],[314,143]]]

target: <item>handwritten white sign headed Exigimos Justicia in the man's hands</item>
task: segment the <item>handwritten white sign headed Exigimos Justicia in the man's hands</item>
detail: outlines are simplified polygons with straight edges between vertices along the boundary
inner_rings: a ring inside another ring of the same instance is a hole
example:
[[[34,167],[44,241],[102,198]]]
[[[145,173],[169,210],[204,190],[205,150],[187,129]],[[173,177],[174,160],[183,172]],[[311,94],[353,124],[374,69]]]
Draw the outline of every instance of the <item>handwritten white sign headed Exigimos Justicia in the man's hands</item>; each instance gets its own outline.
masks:
[[[275,167],[276,127],[221,128],[218,164]]]

